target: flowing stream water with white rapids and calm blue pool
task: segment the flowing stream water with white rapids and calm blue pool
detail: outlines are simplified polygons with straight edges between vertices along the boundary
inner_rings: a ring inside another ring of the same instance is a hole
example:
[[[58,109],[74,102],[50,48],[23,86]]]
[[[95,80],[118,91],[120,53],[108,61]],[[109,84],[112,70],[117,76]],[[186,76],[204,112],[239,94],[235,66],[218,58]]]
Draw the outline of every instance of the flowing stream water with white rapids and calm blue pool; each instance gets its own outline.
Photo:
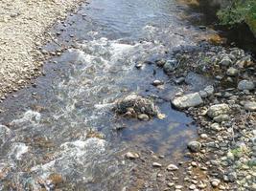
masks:
[[[58,43],[44,49],[67,50],[47,61],[36,85],[1,105],[0,189],[55,190],[61,181],[61,190],[122,190],[133,165],[126,151],[183,159],[196,127],[171,107],[179,87],[153,64],[134,67],[196,45],[200,31],[179,19],[183,9],[175,0],[92,0],[55,26]],[[189,89],[204,86],[190,80]],[[116,116],[113,102],[131,93],[154,98],[166,117]]]

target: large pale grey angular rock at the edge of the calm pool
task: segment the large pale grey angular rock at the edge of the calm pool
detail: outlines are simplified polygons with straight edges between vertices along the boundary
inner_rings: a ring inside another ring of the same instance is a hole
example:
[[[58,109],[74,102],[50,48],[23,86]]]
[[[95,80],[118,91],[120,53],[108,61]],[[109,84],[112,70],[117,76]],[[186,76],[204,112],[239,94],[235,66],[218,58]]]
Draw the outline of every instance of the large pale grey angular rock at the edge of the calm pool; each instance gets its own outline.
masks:
[[[178,96],[172,100],[172,104],[178,109],[185,109],[190,107],[196,107],[203,103],[199,93],[194,93],[185,96]]]

